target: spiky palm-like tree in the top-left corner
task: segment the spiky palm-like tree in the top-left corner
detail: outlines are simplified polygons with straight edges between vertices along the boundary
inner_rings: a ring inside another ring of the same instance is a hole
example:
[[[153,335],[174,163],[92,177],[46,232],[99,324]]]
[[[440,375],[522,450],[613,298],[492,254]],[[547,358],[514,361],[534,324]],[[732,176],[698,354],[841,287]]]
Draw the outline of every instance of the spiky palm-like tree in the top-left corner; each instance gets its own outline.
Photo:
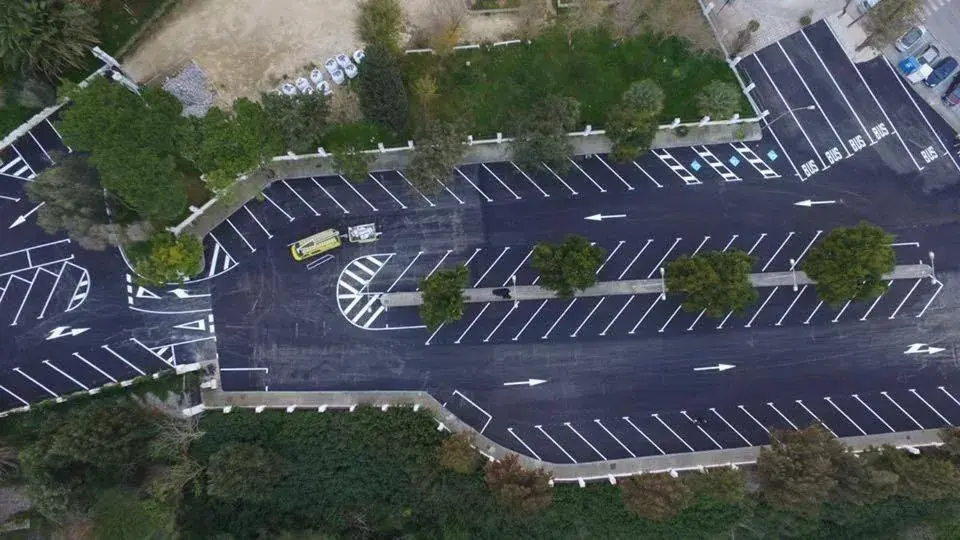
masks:
[[[0,3],[0,65],[4,71],[55,79],[80,68],[99,42],[97,21],[83,6],[63,0]]]

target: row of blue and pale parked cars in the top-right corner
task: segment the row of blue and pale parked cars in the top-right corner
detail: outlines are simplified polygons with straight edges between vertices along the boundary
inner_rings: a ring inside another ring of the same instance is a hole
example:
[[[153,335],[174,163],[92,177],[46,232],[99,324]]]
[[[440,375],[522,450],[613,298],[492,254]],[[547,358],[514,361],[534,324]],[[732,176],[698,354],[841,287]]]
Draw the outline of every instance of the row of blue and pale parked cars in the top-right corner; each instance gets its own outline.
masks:
[[[924,86],[936,88],[957,71],[960,63],[952,56],[940,58],[940,49],[936,45],[926,43],[926,47],[923,47],[921,42],[926,34],[927,29],[917,25],[900,36],[894,46],[907,57],[897,67],[911,83],[922,82]],[[911,54],[911,51],[920,52]],[[950,82],[940,99],[949,107],[960,105],[960,77]]]

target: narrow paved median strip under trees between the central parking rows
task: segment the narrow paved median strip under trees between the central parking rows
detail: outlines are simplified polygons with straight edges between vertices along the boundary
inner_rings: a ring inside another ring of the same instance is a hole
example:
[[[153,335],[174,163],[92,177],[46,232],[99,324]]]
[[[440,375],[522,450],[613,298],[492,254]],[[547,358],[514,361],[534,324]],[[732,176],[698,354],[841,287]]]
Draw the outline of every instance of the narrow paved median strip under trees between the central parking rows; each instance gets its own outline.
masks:
[[[884,274],[883,280],[894,279],[917,279],[930,277],[932,270],[926,264],[903,264],[894,267],[893,272]],[[750,283],[754,287],[792,287],[794,279],[797,285],[813,285],[815,282],[807,277],[802,271],[797,272],[766,272],[763,274],[750,274]],[[557,295],[550,289],[544,289],[537,285],[519,285],[509,287],[510,298],[503,298],[493,294],[496,288],[483,289],[465,289],[463,291],[466,302],[512,302],[514,300],[540,300],[546,298],[556,298]],[[576,296],[612,296],[623,294],[660,294],[666,289],[659,279],[629,279],[623,281],[603,281],[578,291]],[[380,295],[380,302],[387,308],[403,306],[419,306],[423,304],[423,296],[420,292],[396,292],[384,293]]]

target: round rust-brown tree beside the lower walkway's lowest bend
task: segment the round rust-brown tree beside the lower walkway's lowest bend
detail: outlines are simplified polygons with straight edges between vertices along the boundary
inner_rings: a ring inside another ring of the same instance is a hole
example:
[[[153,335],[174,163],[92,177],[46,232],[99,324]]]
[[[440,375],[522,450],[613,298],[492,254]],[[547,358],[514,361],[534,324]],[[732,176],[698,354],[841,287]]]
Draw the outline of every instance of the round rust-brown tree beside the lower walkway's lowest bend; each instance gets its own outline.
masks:
[[[487,463],[483,478],[500,503],[517,514],[531,514],[553,504],[550,473],[542,468],[525,470],[517,454]]]

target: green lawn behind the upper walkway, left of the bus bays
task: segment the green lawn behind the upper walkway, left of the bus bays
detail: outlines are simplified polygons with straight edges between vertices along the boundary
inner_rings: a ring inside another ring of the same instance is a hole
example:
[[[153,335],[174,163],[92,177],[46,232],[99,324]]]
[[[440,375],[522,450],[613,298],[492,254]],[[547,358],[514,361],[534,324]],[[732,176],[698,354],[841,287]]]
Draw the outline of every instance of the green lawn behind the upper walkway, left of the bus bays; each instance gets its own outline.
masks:
[[[445,58],[402,59],[408,88],[421,76],[436,78],[440,114],[462,118],[474,137],[510,132],[518,113],[547,94],[580,101],[581,123],[602,128],[607,114],[631,82],[655,80],[666,93],[661,120],[700,118],[694,96],[714,80],[736,84],[727,64],[691,49],[677,37],[645,34],[619,42],[605,30],[566,34],[551,29],[530,45],[458,52]],[[742,99],[741,116],[752,110]]]

